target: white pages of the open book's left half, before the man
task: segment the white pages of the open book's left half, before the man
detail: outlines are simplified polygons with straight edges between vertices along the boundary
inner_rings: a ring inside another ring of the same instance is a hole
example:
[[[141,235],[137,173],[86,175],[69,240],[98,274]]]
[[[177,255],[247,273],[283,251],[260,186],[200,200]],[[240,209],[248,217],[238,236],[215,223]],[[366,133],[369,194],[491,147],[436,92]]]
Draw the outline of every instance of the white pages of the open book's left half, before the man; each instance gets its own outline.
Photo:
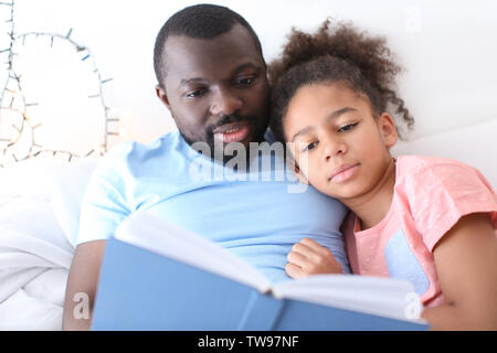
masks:
[[[271,282],[242,258],[213,242],[181,229],[145,212],[125,220],[116,231],[116,239],[179,260],[207,271],[254,287],[261,292]]]

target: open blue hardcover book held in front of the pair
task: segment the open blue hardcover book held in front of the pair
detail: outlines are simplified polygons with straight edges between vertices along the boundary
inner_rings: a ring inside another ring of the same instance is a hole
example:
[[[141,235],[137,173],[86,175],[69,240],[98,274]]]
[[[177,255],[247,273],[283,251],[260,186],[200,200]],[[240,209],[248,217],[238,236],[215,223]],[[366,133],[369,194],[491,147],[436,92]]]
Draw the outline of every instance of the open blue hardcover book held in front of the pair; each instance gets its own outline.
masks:
[[[107,240],[92,330],[426,330],[409,281],[315,275],[272,284],[239,256],[145,212]]]

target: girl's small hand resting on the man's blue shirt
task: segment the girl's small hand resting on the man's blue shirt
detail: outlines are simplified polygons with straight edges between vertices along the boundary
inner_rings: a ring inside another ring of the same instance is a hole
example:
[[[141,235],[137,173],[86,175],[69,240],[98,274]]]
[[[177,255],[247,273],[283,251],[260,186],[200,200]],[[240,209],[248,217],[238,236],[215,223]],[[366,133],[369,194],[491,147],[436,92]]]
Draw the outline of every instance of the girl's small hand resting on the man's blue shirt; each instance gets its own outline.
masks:
[[[295,279],[317,274],[343,274],[331,252],[309,238],[295,244],[286,258],[285,271]]]

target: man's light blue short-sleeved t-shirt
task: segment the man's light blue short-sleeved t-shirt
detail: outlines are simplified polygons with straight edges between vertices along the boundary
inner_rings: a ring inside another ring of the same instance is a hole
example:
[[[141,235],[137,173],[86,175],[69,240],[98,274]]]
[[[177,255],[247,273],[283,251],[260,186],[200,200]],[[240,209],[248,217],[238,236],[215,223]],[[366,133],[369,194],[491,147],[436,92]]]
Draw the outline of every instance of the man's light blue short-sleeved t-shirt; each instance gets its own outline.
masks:
[[[145,210],[230,249],[273,282],[289,278],[286,256],[304,237],[328,247],[350,272],[339,231],[347,208],[298,183],[269,148],[255,156],[236,171],[194,151],[178,131],[116,146],[87,186],[77,244],[107,239]]]

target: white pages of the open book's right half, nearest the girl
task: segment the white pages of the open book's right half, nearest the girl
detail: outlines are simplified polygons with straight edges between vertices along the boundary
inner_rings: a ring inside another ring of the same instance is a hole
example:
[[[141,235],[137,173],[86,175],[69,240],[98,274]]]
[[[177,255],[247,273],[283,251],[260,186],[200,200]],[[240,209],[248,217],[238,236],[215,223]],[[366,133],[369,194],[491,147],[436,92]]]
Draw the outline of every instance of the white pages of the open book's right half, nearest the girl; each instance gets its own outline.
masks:
[[[288,298],[398,320],[416,320],[422,304],[411,282],[355,275],[315,275],[279,282],[276,298]]]

